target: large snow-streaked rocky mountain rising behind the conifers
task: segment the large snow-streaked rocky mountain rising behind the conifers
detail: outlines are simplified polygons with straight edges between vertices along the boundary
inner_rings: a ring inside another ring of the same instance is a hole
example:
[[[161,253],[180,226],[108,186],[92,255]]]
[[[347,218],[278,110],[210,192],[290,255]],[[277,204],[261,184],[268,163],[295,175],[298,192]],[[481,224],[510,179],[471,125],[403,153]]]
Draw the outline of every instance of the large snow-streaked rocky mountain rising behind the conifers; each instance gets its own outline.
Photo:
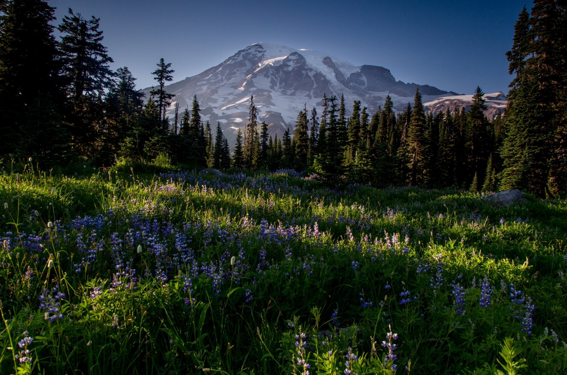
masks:
[[[458,95],[428,85],[396,81],[384,67],[354,66],[323,52],[261,42],[201,74],[168,85],[166,90],[176,95],[174,100],[179,103],[180,112],[185,106],[191,110],[193,95],[197,95],[202,119],[209,120],[213,129],[217,121],[221,122],[223,133],[234,144],[236,131],[248,119],[251,95],[259,121],[269,123],[269,133],[281,137],[287,127],[293,130],[304,106],[309,112],[315,106],[321,113],[324,93],[337,99],[343,94],[347,113],[353,101],[360,100],[373,114],[387,95],[392,97],[394,109],[403,110],[413,103],[417,87],[424,103]],[[146,89],[146,94],[149,91]],[[176,102],[168,110],[170,118]]]

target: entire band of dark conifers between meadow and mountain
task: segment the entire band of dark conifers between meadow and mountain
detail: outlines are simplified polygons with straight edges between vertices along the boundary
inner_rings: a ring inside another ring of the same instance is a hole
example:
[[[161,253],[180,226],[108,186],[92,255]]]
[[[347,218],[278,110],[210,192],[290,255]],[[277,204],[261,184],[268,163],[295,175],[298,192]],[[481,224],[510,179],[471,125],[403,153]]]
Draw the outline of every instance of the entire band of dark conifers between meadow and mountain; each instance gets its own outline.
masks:
[[[192,108],[166,110],[174,95],[171,63],[160,59],[156,86],[145,100],[127,67],[116,71],[103,46],[99,19],[69,10],[54,37],[46,0],[0,2],[0,131],[2,157],[32,157],[43,167],[88,160],[109,166],[118,157],[150,161],[162,155],[188,168],[294,168],[328,184],[370,183],[476,191],[526,189],[539,197],[567,192],[567,24],[565,6],[536,1],[515,26],[507,53],[515,74],[505,115],[484,115],[483,92],[473,104],[435,116],[416,91],[396,114],[388,96],[369,113],[354,101],[323,98],[304,108],[293,134],[278,138],[257,121],[251,97],[244,133],[233,152],[221,124],[213,132]],[[319,110],[319,112],[318,112]],[[213,133],[215,134],[213,136]]]

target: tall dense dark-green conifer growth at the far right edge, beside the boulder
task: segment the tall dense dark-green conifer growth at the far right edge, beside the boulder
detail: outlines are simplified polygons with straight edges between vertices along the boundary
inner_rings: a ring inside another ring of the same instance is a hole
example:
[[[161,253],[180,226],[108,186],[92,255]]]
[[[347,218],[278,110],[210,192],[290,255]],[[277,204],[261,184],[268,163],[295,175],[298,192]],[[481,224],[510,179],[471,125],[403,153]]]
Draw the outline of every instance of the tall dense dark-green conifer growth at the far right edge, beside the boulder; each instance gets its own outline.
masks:
[[[507,53],[510,84],[507,135],[500,154],[500,188],[527,189],[538,197],[567,193],[567,10],[556,1],[535,1],[522,10]]]

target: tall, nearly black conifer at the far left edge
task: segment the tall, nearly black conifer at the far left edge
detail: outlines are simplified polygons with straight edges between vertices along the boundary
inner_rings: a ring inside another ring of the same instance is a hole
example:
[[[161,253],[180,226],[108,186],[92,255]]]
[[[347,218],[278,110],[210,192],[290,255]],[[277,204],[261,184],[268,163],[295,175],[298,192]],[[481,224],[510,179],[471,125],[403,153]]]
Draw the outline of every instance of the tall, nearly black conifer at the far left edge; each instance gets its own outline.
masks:
[[[69,155],[54,9],[45,0],[0,2],[0,156],[32,156],[46,166]]]

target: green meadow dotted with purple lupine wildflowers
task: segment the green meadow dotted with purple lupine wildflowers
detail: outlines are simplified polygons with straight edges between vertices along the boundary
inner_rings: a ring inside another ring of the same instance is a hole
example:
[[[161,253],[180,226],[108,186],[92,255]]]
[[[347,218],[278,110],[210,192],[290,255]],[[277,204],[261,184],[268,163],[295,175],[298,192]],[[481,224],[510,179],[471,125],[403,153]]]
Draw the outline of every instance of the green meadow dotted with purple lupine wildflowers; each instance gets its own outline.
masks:
[[[87,169],[0,174],[2,374],[565,372],[564,201]]]

